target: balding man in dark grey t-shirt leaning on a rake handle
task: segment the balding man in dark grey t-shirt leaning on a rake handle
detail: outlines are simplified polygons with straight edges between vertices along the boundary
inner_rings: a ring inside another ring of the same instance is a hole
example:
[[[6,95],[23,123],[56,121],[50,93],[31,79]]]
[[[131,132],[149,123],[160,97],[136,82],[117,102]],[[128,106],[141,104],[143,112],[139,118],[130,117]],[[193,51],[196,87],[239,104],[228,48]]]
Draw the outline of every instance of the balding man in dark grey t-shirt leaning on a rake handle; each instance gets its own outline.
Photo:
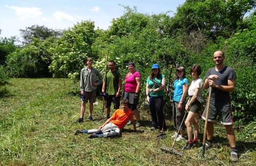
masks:
[[[230,158],[233,162],[238,161],[236,149],[236,137],[233,131],[233,117],[231,110],[231,99],[229,92],[235,90],[236,74],[235,70],[223,64],[225,59],[222,51],[216,51],[213,54],[213,61],[216,66],[210,68],[205,75],[204,88],[212,87],[212,95],[210,98],[210,108],[207,123],[207,141],[205,147],[209,148],[212,145],[212,137],[214,132],[214,122],[217,115],[220,117],[221,124],[226,128],[228,141],[231,146]],[[207,104],[206,104],[207,105]],[[202,115],[205,120],[206,109]]]

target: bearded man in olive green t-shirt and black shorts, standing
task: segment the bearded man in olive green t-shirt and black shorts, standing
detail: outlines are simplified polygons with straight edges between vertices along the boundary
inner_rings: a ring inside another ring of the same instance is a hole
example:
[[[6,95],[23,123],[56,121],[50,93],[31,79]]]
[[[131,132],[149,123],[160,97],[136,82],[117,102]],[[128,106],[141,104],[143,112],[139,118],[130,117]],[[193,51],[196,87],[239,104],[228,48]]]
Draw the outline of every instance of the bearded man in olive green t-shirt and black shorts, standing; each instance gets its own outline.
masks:
[[[105,107],[107,115],[104,120],[110,118],[110,106],[112,102],[116,110],[120,107],[120,92],[122,88],[122,79],[120,72],[115,70],[114,60],[109,61],[109,71],[106,74],[106,82],[103,82],[102,92],[105,92],[105,88],[107,94],[109,94],[109,97],[105,97]]]

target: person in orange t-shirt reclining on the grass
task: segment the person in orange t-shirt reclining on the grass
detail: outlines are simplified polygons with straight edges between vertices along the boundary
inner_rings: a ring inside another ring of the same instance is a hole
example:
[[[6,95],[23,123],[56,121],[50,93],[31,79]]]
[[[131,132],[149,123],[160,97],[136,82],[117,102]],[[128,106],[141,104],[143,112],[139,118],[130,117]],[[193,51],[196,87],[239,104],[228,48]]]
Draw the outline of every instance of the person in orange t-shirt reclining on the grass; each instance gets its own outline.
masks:
[[[133,120],[133,112],[128,110],[129,100],[122,100],[122,109],[118,109],[114,112],[113,116],[111,116],[107,121],[99,127],[99,129],[91,129],[91,130],[83,130],[78,129],[75,130],[75,135],[88,133],[89,138],[98,138],[98,137],[117,137],[120,134],[123,126],[126,125],[126,122],[131,117],[131,122],[133,123],[134,130],[139,132],[140,130],[136,129],[136,124]]]

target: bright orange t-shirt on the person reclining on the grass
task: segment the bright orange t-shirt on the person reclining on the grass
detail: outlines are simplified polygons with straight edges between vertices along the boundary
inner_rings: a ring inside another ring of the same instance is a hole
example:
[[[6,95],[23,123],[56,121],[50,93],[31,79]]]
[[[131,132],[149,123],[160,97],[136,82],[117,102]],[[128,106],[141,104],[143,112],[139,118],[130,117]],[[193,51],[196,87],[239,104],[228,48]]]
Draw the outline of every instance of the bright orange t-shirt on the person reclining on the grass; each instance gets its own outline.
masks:
[[[131,115],[133,115],[133,112],[131,110],[123,112],[122,109],[118,109],[112,115],[113,120],[111,120],[111,122],[114,123],[119,129],[122,129],[122,127],[131,117]],[[131,117],[131,121],[133,122],[133,117]]]

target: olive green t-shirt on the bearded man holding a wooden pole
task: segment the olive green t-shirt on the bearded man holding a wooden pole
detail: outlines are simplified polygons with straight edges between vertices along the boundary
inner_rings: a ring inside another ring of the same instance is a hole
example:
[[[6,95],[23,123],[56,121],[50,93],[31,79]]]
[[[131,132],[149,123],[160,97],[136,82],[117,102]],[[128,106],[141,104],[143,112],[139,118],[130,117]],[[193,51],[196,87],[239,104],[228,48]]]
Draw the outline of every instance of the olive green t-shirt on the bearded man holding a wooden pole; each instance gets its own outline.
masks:
[[[119,71],[115,70],[113,72],[107,72],[107,94],[115,95],[117,93],[119,87],[119,79],[121,79],[121,74]]]

